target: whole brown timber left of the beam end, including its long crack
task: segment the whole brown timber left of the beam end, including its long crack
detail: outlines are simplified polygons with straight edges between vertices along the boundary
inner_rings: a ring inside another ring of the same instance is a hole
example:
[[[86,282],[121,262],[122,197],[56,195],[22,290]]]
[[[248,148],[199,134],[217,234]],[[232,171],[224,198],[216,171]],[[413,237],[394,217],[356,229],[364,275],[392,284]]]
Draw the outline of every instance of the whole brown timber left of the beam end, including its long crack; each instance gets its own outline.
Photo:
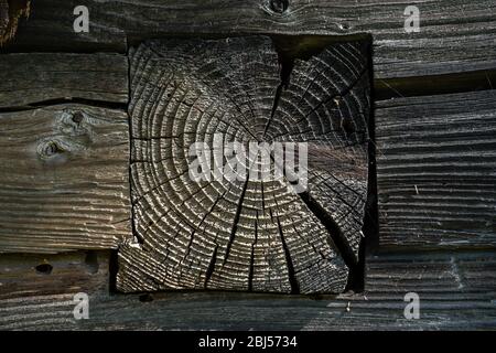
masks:
[[[130,236],[127,100],[125,55],[0,55],[0,253]]]

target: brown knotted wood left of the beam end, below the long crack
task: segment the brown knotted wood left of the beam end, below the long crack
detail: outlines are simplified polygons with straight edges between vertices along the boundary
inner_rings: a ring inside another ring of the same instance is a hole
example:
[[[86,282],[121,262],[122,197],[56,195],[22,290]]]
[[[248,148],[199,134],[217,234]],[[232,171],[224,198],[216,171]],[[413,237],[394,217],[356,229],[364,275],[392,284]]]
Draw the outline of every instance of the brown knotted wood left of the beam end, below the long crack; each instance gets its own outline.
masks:
[[[130,235],[126,113],[2,113],[0,150],[0,253],[116,248]]]

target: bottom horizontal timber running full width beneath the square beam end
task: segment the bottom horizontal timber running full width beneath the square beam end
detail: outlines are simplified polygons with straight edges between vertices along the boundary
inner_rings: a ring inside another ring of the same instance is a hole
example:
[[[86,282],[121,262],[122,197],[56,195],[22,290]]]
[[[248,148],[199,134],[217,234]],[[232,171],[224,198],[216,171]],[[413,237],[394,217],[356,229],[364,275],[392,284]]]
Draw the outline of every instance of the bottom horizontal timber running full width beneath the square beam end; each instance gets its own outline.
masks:
[[[109,295],[106,259],[86,255],[0,258],[2,330],[494,330],[496,254],[390,254],[367,259],[365,295],[338,297],[229,292]],[[51,275],[36,274],[40,261]],[[36,278],[36,280],[33,280]],[[43,286],[41,285],[43,284]],[[73,297],[89,295],[89,320]],[[403,297],[420,297],[407,320]],[[193,343],[192,343],[193,344]]]

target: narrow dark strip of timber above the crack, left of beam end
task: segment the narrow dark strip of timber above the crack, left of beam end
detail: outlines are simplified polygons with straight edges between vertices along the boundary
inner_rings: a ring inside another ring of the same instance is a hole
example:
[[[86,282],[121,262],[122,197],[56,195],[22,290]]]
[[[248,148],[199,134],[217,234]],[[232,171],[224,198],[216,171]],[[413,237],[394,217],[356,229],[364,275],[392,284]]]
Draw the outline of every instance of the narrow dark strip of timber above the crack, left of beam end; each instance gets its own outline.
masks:
[[[126,56],[66,53],[0,55],[0,108],[22,108],[57,99],[126,104]]]

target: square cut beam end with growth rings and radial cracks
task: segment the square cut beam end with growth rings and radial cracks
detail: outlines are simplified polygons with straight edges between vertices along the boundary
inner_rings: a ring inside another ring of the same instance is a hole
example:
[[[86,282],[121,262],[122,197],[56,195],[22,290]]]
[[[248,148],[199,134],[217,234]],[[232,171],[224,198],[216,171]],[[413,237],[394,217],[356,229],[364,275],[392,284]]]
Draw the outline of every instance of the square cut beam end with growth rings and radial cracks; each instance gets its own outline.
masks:
[[[343,291],[367,197],[366,53],[367,43],[339,44],[279,67],[265,36],[131,51],[131,188],[142,244],[119,249],[118,288]],[[254,158],[249,178],[192,180],[190,146],[214,149],[216,133],[247,150],[306,142],[308,188],[252,178]]]

